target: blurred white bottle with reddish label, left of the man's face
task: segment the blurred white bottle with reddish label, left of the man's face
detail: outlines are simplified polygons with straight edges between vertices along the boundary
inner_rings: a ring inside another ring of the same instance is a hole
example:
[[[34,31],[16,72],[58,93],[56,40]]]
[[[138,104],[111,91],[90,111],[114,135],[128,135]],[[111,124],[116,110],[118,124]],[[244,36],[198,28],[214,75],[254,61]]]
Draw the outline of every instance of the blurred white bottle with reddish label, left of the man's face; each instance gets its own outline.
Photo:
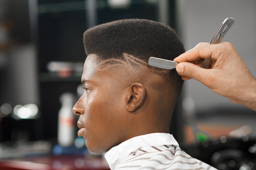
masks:
[[[60,97],[61,109],[58,113],[58,144],[61,146],[74,145],[75,115],[72,113],[74,95],[63,93]]]

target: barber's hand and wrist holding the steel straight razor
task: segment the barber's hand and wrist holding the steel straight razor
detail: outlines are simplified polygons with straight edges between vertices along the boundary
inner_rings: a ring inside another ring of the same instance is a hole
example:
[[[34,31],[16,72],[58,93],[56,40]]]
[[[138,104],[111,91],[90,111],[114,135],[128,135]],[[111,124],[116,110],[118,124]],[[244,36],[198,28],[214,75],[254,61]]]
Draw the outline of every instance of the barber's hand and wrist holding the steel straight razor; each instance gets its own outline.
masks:
[[[208,69],[202,61],[211,57]],[[228,42],[200,43],[174,59],[183,80],[193,78],[213,92],[256,111],[256,80],[240,55]]]

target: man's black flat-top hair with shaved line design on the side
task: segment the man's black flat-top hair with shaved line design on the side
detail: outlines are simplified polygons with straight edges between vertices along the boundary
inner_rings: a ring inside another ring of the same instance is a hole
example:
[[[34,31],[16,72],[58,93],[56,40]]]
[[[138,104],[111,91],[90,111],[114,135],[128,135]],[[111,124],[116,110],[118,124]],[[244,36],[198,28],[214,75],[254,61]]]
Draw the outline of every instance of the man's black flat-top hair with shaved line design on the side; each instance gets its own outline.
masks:
[[[85,31],[83,44],[87,55],[96,54],[106,65],[125,61],[134,67],[144,65],[152,69],[180,94],[183,80],[175,69],[166,71],[148,65],[149,57],[173,60],[185,52],[170,26],[144,19],[117,20]],[[133,59],[128,60],[124,54],[132,55]]]

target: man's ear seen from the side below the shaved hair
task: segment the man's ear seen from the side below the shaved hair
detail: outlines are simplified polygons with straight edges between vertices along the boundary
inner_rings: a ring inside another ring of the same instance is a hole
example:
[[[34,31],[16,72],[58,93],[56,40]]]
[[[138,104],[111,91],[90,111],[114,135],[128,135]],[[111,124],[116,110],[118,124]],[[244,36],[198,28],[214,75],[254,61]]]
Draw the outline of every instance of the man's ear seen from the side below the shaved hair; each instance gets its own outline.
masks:
[[[146,97],[146,88],[141,83],[132,83],[128,89],[127,110],[133,112],[138,109]]]

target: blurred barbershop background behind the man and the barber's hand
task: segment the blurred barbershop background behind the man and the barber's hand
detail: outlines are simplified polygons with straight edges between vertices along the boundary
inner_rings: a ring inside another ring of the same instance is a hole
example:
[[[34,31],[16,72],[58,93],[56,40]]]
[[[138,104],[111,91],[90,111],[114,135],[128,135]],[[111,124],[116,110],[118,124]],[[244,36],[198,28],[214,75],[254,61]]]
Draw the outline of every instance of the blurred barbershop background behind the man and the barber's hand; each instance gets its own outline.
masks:
[[[140,18],[175,29],[185,50],[222,39],[256,76],[255,0],[0,0],[0,170],[109,170],[77,135],[83,32]],[[113,106],[114,107],[114,106]],[[192,157],[219,170],[256,170],[256,112],[184,81],[170,133]]]

